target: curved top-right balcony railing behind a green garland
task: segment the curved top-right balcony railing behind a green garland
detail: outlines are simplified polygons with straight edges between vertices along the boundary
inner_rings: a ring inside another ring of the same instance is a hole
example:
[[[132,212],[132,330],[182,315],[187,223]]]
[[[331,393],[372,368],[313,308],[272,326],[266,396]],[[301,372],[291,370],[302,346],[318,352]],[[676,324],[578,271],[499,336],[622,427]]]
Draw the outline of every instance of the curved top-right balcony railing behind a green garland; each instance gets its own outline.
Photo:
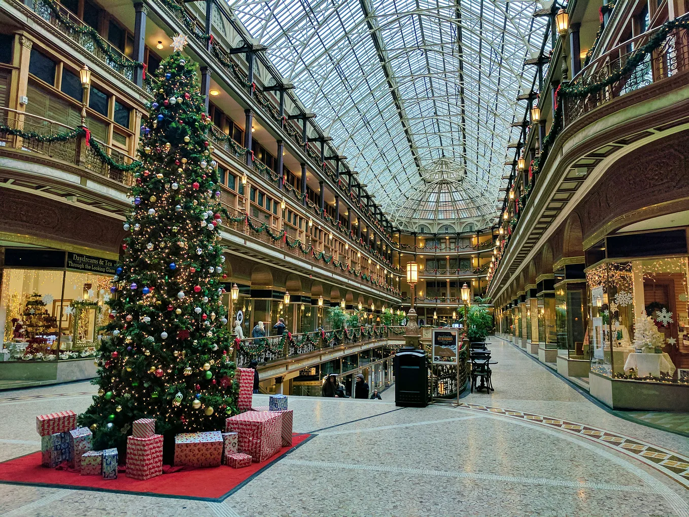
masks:
[[[654,39],[662,36],[662,27],[644,32],[617,45],[584,67],[570,86],[593,91],[584,96],[566,95],[564,125],[617,97],[689,70],[689,32],[686,29],[670,31],[655,49],[644,52],[644,45],[653,47]],[[599,83],[617,76],[612,83],[596,88]]]

